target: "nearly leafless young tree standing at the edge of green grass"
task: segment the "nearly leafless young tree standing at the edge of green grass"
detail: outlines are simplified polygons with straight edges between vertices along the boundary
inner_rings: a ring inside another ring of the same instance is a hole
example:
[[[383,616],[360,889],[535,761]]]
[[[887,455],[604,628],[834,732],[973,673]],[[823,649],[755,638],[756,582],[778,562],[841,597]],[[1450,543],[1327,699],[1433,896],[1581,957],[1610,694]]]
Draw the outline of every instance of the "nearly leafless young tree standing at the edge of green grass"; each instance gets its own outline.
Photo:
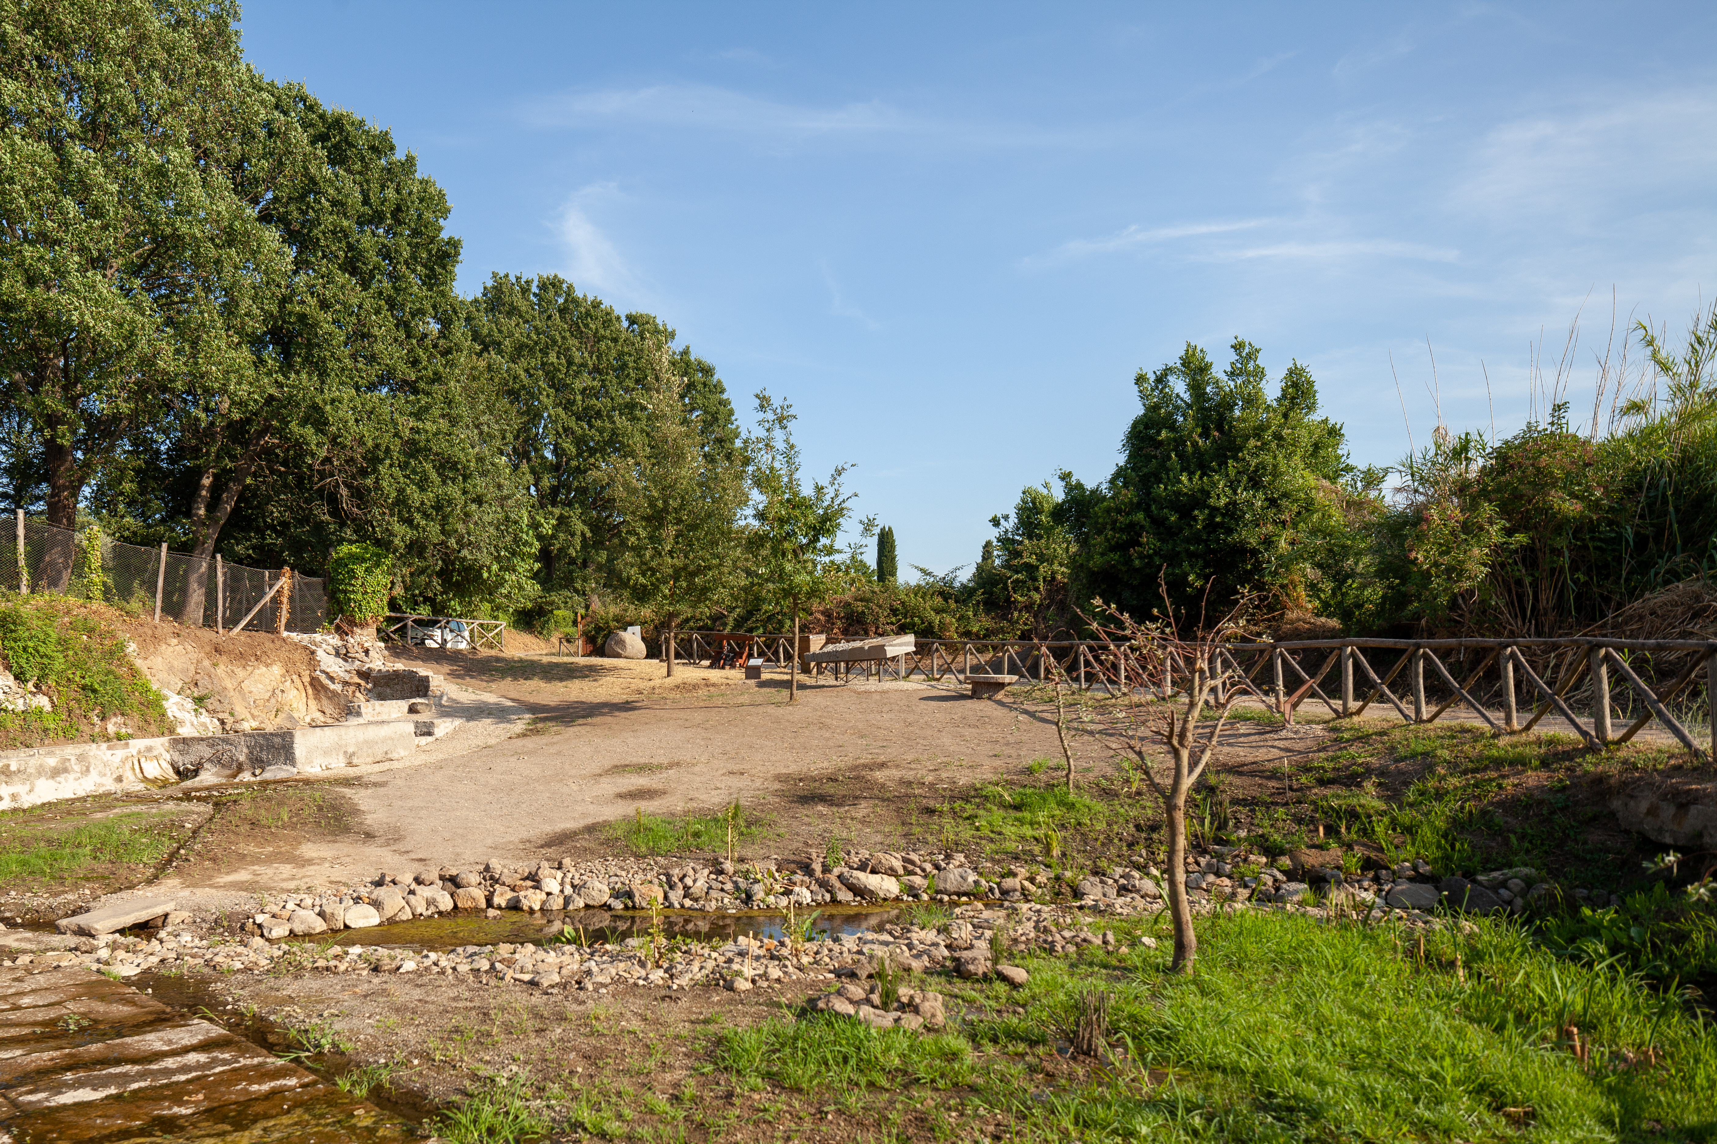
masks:
[[[1181,638],[1171,621],[1140,624],[1101,600],[1095,611],[1101,621],[1092,628],[1111,648],[1097,674],[1111,698],[1092,705],[1087,729],[1142,774],[1162,804],[1169,835],[1164,890],[1174,926],[1169,969],[1190,974],[1198,938],[1186,897],[1186,799],[1216,758],[1235,700],[1252,689],[1243,674],[1223,665],[1223,641],[1240,633],[1238,609],[1192,638]]]

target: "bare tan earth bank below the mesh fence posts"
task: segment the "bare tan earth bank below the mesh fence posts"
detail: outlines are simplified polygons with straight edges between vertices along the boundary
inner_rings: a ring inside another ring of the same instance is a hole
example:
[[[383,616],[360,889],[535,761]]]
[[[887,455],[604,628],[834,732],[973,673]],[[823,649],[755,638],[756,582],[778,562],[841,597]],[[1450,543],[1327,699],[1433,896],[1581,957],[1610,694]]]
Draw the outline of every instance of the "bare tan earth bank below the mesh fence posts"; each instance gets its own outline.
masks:
[[[215,635],[172,621],[120,617],[149,683],[184,695],[223,731],[275,731],[345,720],[347,700],[316,676],[316,653],[264,631]]]

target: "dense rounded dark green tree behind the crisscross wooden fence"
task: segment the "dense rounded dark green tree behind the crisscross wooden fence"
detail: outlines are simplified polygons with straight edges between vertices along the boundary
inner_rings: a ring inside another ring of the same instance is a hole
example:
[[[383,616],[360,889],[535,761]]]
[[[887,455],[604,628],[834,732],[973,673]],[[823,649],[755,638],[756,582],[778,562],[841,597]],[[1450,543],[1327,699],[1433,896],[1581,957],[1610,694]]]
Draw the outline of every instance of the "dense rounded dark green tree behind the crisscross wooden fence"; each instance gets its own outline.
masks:
[[[1351,470],[1341,425],[1317,415],[1317,384],[1293,362],[1272,398],[1259,348],[1235,340],[1221,374],[1188,343],[1135,384],[1144,406],[1104,485],[1068,482],[1075,573],[1133,616],[1171,607],[1216,619],[1241,593],[1308,604],[1315,537]]]

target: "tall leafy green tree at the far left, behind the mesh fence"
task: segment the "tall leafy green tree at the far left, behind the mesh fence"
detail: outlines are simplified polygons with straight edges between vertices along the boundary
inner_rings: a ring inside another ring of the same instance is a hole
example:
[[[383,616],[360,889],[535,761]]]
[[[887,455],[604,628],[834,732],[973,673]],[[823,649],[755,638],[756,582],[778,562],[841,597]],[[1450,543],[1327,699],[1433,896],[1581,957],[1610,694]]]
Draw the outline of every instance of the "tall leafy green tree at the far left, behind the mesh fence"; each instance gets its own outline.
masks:
[[[235,19],[221,0],[0,5],[0,376],[55,525],[172,394],[258,369],[288,252],[240,184],[270,177],[254,141],[292,130]]]

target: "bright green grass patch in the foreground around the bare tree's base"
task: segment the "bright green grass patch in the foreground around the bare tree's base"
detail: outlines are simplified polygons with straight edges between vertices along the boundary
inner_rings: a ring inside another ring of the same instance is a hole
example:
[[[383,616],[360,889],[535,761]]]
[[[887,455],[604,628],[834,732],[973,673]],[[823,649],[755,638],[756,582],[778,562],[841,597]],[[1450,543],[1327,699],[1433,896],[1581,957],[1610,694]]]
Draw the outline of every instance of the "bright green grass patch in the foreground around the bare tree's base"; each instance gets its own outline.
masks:
[[[1023,990],[943,984],[972,1007],[960,1033],[774,1019],[725,1033],[714,1062],[798,1091],[965,1087],[1022,1141],[1717,1139],[1712,1027],[1520,928],[1434,933],[1420,960],[1387,928],[1204,918],[1192,978],[1168,974],[1168,943],[1137,947],[1138,923],[1114,930],[1119,952],[1025,957]],[[1114,1055],[1046,1070],[1092,990]]]

